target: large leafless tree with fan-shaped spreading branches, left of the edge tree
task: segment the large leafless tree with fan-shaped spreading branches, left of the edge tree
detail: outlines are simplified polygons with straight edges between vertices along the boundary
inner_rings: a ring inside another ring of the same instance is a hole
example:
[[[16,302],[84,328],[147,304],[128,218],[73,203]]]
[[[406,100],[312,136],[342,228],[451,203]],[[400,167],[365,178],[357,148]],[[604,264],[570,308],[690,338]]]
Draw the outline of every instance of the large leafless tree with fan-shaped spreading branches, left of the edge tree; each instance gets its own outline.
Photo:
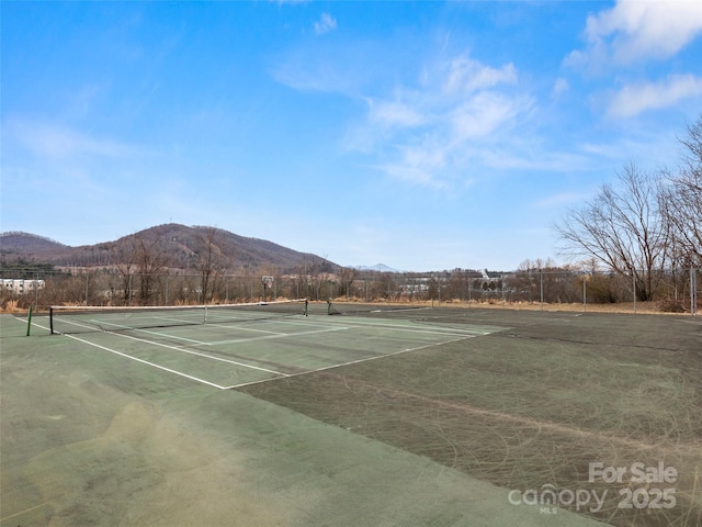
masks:
[[[568,211],[556,233],[565,254],[601,261],[632,280],[638,300],[652,300],[669,257],[658,178],[629,165],[616,183],[603,186],[593,200]]]

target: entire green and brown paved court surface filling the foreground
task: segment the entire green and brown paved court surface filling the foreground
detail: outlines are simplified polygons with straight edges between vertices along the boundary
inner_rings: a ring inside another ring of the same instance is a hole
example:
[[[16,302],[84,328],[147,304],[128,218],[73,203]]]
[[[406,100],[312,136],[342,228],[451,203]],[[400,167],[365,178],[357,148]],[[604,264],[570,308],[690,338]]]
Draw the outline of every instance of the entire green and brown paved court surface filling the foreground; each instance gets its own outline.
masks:
[[[31,337],[2,315],[2,526],[702,520],[699,318],[326,311]],[[635,462],[677,470],[672,506],[588,480]]]

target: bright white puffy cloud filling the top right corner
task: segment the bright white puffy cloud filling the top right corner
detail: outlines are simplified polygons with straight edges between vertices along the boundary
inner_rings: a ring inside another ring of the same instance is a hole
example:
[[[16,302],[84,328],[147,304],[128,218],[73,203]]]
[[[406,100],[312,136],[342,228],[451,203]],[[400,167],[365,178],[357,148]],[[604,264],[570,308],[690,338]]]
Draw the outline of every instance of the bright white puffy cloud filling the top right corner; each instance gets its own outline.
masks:
[[[673,56],[702,33],[702,2],[619,0],[612,9],[588,16],[588,47],[566,63],[599,68]]]

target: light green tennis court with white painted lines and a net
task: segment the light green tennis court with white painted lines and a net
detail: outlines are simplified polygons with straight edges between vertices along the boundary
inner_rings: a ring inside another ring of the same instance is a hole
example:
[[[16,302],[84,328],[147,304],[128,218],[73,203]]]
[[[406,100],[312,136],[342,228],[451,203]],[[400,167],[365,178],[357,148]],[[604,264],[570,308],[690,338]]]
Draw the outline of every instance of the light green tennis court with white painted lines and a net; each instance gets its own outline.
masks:
[[[231,307],[211,309],[206,319],[199,309],[97,309],[87,314],[67,310],[53,326],[88,346],[218,389],[324,371],[503,329],[485,324],[417,324],[412,318],[322,316],[324,304],[313,307],[312,316],[295,302]],[[403,311],[418,315],[428,310]]]

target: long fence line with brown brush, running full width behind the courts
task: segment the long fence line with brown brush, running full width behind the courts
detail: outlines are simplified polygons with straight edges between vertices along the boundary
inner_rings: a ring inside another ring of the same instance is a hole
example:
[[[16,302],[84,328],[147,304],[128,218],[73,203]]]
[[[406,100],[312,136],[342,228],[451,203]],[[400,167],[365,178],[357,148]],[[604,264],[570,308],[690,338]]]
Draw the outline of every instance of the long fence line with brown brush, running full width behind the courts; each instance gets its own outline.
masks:
[[[120,273],[0,270],[0,304],[46,310],[49,305],[204,305],[284,299],[324,302],[636,304],[699,314],[702,271],[677,269],[629,276],[615,272],[526,269],[513,272],[454,270],[435,273],[346,272],[318,276],[203,277],[195,273]],[[268,281],[262,280],[268,278]],[[22,281],[20,283],[20,281]],[[635,307],[634,307],[635,309]]]

